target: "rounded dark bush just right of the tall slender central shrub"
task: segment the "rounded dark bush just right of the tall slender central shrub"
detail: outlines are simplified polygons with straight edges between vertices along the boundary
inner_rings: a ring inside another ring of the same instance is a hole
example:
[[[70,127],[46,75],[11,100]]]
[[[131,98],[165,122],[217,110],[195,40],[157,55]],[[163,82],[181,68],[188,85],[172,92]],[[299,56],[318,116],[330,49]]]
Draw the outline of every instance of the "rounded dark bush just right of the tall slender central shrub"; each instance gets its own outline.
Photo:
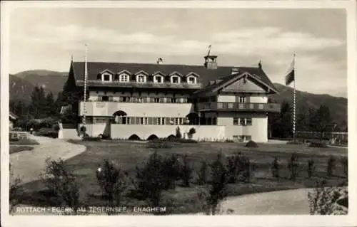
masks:
[[[241,152],[227,157],[226,169],[230,184],[235,184],[237,181],[248,182],[250,179],[251,163]]]

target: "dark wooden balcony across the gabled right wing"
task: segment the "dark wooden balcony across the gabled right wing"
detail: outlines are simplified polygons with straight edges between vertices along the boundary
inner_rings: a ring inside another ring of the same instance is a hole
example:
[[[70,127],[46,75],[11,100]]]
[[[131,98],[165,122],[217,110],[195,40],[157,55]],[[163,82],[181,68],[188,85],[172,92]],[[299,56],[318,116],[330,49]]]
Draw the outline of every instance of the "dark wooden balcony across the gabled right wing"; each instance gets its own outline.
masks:
[[[253,102],[201,102],[196,104],[197,111],[247,111],[247,112],[280,112],[278,103]]]

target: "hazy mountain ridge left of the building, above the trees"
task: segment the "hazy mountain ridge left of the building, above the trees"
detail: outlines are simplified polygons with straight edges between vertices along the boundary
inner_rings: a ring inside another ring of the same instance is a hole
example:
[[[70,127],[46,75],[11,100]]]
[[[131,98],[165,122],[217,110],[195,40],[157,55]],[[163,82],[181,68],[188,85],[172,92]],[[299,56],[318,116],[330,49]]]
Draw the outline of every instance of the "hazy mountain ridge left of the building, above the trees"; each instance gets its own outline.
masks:
[[[46,92],[51,91],[54,97],[56,97],[57,94],[62,91],[67,76],[68,73],[66,72],[50,70],[28,70],[10,75],[10,99],[13,100],[16,99],[16,97],[29,98],[29,95],[31,95],[36,85],[43,86]],[[16,85],[14,85],[14,82]],[[24,95],[21,96],[21,94]]]

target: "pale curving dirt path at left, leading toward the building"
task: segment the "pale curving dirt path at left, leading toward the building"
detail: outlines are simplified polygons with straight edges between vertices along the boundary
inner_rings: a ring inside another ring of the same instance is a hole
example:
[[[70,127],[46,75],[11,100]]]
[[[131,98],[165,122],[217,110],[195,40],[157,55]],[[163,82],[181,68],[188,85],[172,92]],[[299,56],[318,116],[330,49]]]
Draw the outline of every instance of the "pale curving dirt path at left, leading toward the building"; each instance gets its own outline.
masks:
[[[39,142],[39,145],[34,146],[31,151],[10,154],[14,176],[20,176],[21,183],[39,179],[39,174],[43,171],[48,157],[51,157],[51,159],[69,159],[86,150],[83,145],[71,144],[62,139],[36,137],[34,135],[29,135],[29,138],[35,139]]]

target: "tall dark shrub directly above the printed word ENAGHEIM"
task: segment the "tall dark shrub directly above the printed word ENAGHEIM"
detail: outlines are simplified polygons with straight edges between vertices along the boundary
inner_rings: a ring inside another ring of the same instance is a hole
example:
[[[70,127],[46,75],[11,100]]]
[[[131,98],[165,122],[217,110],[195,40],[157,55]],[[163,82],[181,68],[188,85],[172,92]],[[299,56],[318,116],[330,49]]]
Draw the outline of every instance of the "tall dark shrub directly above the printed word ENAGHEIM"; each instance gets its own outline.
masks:
[[[165,179],[162,171],[163,158],[154,152],[144,167],[136,167],[137,189],[144,198],[149,199],[151,206],[159,206],[162,191],[165,189]]]

